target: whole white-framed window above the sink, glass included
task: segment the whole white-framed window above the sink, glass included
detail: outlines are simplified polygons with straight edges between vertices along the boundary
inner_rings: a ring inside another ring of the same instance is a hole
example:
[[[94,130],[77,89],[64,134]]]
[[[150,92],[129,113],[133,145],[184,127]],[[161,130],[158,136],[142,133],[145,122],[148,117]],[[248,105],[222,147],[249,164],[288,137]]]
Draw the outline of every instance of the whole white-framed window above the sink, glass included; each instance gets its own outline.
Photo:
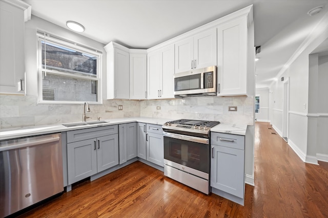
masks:
[[[101,103],[101,53],[38,32],[38,101]]]

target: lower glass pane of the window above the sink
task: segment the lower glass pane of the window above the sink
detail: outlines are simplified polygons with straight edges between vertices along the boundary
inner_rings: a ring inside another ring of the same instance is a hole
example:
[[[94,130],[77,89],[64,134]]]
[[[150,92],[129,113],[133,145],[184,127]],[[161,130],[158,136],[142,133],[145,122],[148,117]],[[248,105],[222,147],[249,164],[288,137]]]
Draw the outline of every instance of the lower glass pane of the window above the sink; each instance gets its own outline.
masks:
[[[43,76],[43,100],[97,102],[97,80],[47,73]]]

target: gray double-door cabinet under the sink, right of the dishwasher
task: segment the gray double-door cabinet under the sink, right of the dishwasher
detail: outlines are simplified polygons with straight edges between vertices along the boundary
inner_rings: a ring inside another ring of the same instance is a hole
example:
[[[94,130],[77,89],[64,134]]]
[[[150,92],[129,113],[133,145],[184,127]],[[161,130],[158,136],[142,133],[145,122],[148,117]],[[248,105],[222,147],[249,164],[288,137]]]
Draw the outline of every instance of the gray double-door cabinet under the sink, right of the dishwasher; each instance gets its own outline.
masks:
[[[68,185],[118,164],[117,125],[69,131],[67,142]]]

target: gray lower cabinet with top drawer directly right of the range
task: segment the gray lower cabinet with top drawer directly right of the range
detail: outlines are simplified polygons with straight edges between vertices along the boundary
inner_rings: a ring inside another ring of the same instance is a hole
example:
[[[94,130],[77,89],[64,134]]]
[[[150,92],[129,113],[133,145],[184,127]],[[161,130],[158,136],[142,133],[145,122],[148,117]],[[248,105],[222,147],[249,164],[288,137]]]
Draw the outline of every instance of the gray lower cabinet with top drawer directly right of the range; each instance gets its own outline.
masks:
[[[244,136],[211,133],[211,187],[244,198]]]

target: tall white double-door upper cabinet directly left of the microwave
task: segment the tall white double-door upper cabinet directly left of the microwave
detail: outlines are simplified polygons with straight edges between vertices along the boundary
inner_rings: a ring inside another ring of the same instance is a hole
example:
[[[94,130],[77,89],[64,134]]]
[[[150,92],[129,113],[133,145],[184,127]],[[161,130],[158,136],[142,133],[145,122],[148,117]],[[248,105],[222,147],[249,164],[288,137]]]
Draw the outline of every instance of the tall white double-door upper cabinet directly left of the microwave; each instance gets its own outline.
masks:
[[[174,98],[174,45],[150,52],[147,58],[148,99]]]

